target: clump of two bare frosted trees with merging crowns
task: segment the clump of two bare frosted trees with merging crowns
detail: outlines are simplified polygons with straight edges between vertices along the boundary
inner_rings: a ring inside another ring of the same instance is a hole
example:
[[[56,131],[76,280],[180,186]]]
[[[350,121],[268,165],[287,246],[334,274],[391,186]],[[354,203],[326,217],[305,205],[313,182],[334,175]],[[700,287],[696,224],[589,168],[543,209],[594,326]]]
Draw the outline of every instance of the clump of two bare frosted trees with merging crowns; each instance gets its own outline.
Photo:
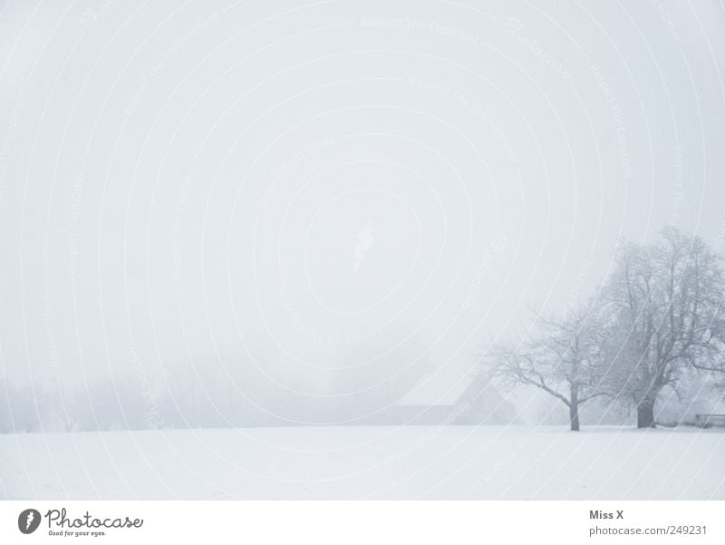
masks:
[[[594,297],[561,316],[536,316],[516,342],[493,346],[484,367],[509,387],[552,395],[579,430],[580,409],[632,406],[637,427],[654,427],[663,389],[711,374],[725,387],[725,280],[721,259],[701,238],[667,228],[652,244],[625,242]]]

